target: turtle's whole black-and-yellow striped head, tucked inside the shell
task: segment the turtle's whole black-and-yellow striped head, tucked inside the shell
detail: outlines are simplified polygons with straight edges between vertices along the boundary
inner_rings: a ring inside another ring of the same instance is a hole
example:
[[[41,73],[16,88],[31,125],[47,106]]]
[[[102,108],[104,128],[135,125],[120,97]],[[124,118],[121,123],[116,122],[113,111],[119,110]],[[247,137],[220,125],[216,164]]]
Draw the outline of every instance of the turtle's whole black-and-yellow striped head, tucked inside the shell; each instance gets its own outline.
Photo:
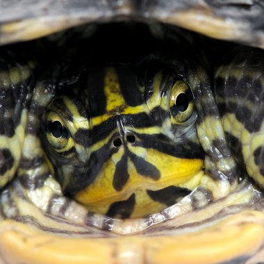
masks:
[[[90,211],[142,217],[199,185],[203,153],[190,85],[176,69],[88,69],[44,115],[44,148],[63,192]]]

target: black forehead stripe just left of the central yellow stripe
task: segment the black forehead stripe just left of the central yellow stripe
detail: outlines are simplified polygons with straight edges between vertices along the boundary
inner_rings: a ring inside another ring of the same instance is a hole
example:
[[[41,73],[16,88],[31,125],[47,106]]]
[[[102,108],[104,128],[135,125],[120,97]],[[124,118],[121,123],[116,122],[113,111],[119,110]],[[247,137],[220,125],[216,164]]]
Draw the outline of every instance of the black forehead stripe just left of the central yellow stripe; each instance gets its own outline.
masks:
[[[106,113],[106,94],[104,93],[104,70],[89,69],[88,97],[90,117],[97,117]]]

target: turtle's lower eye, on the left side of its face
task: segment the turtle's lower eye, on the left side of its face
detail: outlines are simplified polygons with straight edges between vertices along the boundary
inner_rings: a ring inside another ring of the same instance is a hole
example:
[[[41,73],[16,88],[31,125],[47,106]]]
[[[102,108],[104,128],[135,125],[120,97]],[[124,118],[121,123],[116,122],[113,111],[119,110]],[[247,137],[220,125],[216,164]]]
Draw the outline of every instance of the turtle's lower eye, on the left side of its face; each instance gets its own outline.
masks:
[[[69,149],[71,145],[70,133],[63,119],[56,113],[47,115],[46,136],[49,144],[58,152]]]

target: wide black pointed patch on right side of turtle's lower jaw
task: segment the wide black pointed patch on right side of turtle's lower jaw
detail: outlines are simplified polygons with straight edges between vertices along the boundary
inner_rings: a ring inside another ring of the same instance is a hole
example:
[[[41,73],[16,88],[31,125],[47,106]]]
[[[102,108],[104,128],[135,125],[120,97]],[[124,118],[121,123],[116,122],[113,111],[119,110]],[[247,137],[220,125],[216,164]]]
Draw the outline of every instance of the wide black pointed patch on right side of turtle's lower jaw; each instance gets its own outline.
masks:
[[[190,192],[191,191],[187,188],[172,185],[161,190],[147,190],[147,195],[154,201],[166,204],[166,206],[172,206],[172,204],[175,204],[179,199],[190,195]]]

